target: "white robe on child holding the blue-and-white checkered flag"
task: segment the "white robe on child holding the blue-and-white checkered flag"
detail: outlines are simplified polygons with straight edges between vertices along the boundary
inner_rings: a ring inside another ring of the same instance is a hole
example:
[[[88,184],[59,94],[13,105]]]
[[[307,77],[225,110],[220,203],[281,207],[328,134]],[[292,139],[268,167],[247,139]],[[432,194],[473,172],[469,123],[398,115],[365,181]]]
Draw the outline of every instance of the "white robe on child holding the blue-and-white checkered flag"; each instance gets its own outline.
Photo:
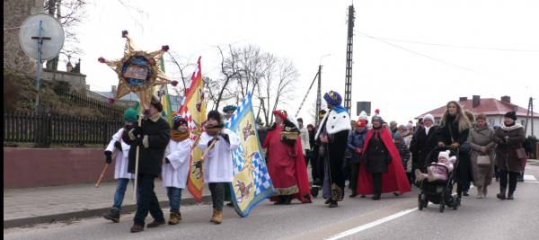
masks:
[[[232,159],[232,151],[240,146],[240,138],[231,130],[225,129],[228,134],[230,143],[221,138],[216,142],[216,145],[209,150],[204,162],[204,182],[233,182],[234,181],[234,164]],[[202,153],[208,149],[208,142],[213,137],[210,137],[206,132],[202,133],[199,141],[199,148]]]

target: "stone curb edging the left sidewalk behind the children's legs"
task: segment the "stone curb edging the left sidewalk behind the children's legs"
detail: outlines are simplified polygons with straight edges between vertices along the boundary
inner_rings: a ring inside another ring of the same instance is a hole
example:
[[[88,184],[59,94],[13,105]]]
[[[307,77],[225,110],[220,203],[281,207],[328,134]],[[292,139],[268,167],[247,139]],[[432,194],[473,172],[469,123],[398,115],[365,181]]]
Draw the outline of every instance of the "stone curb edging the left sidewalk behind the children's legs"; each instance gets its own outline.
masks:
[[[211,201],[211,195],[202,196],[202,199],[200,202],[208,202]],[[185,198],[181,199],[181,205],[193,205],[198,203],[195,198]],[[159,205],[161,208],[168,208],[169,207],[169,200],[160,200]],[[4,220],[4,229],[5,228],[11,228],[11,227],[22,227],[26,225],[31,224],[40,224],[40,223],[51,223],[55,221],[66,221],[73,218],[93,218],[93,217],[99,217],[102,216],[105,213],[108,213],[110,211],[110,208],[99,208],[99,209],[87,209],[87,210],[79,210],[79,211],[72,211],[72,212],[65,212],[65,213],[58,213],[58,214],[51,214],[51,215],[43,215],[43,216],[32,216],[27,218],[15,218],[15,219],[8,219]],[[121,212],[134,212],[137,211],[137,205],[136,204],[125,204],[122,206]]]

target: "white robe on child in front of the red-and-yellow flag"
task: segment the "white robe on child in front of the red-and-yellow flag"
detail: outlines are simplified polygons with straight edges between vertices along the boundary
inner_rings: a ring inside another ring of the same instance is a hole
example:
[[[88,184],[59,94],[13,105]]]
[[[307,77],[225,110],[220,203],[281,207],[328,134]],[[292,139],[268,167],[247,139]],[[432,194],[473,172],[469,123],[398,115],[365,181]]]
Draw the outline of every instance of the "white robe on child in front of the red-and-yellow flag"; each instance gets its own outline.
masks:
[[[164,156],[171,162],[163,164],[163,187],[185,189],[190,170],[190,138],[181,142],[171,140]]]

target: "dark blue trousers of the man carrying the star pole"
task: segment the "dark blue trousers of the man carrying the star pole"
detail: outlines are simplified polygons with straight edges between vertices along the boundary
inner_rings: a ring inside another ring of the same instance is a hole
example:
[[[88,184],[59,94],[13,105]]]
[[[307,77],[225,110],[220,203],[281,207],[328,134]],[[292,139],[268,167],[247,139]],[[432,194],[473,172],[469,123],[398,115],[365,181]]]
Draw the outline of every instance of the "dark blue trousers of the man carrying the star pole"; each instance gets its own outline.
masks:
[[[155,196],[155,176],[138,174],[137,188],[140,192],[140,202],[138,203],[137,214],[135,214],[135,225],[144,226],[144,221],[148,212],[157,222],[164,222],[163,210],[159,206],[159,200]]]

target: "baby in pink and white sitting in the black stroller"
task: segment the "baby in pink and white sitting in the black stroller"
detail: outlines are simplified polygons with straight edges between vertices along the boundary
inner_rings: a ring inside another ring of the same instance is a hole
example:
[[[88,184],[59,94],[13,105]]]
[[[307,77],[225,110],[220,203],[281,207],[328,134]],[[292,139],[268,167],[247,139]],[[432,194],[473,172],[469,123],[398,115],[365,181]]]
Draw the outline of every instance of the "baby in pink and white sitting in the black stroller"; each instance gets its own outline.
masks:
[[[423,179],[429,179],[429,182],[434,182],[437,180],[447,181],[447,174],[453,172],[453,164],[455,164],[456,156],[449,157],[451,151],[446,150],[442,151],[438,155],[438,162],[432,162],[433,165],[429,166],[429,173],[421,173],[420,169],[416,169],[416,180],[423,181]],[[444,165],[446,168],[437,165]],[[448,173],[447,173],[448,172]]]

